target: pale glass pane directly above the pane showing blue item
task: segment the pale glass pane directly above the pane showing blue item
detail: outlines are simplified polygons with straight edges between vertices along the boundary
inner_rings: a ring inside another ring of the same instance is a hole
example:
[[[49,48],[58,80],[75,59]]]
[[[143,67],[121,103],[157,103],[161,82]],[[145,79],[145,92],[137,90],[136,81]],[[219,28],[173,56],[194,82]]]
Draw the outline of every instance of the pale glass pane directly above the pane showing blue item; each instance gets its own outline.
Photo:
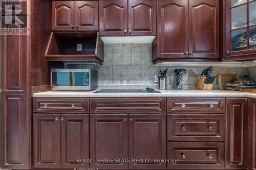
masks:
[[[231,9],[231,29],[247,26],[247,7],[242,5]]]

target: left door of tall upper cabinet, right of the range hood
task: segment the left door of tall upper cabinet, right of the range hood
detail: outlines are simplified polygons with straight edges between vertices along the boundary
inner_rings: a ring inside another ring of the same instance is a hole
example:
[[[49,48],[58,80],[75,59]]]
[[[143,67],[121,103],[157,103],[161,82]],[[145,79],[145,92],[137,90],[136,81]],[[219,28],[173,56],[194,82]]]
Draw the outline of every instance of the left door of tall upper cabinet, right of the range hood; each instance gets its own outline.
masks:
[[[158,56],[188,56],[188,1],[159,0],[157,14]]]

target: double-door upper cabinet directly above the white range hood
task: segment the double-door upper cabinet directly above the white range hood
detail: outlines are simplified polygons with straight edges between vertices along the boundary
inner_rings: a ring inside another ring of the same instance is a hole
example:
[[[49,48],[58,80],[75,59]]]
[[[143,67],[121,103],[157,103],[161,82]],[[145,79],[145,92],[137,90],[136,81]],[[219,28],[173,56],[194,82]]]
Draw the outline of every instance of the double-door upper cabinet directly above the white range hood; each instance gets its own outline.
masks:
[[[156,0],[100,0],[100,36],[155,36]]]

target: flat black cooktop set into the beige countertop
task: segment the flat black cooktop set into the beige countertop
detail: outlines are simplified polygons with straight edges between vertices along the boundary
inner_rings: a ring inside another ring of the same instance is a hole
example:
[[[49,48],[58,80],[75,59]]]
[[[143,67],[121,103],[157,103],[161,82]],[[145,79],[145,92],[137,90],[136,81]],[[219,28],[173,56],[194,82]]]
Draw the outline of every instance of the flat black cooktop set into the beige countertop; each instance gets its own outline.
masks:
[[[94,93],[161,93],[156,90],[148,89],[101,89]]]

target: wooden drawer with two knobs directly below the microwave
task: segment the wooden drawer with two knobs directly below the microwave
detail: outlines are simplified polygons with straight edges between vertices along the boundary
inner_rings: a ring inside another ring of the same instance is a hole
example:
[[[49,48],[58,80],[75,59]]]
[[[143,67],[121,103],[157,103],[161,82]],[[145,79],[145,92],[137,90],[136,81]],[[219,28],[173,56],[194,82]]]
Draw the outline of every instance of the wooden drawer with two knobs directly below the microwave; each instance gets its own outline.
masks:
[[[89,113],[89,99],[34,98],[35,113]]]

